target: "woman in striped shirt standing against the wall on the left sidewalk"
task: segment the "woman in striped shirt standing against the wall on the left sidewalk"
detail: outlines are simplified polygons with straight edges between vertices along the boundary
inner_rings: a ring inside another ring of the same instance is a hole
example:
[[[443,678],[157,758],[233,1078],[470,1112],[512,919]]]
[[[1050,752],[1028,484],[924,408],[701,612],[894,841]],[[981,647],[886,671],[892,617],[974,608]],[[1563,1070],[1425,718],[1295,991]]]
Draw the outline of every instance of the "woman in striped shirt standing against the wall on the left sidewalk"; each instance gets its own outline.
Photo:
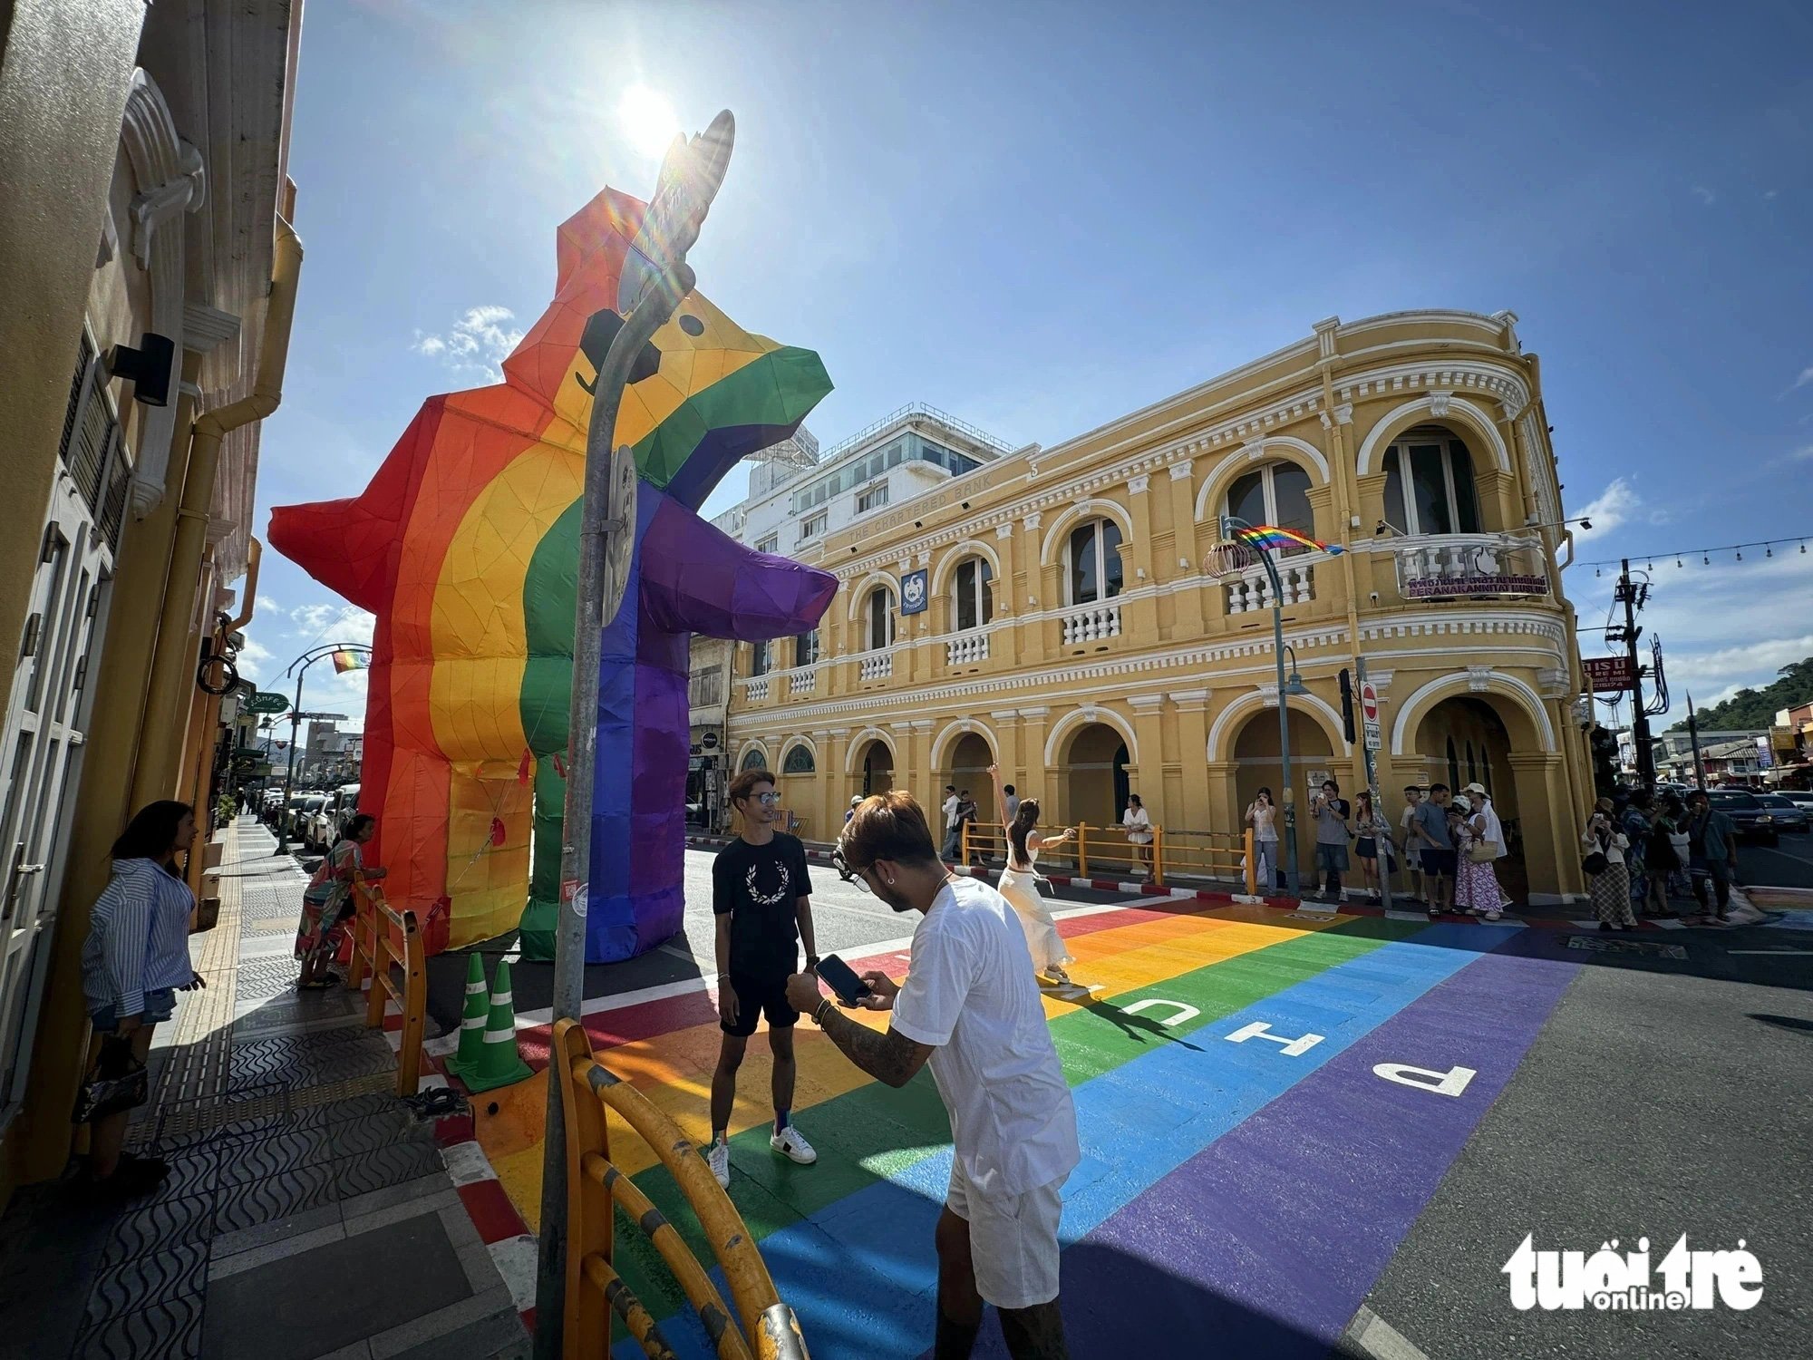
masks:
[[[176,1012],[176,992],[205,986],[189,963],[189,918],[196,896],[176,856],[196,838],[189,803],[160,801],[138,816],[112,845],[112,879],[94,901],[89,937],[82,947],[82,994],[103,1046],[125,1043],[140,1063],[150,1052],[150,1032]],[[156,1157],[131,1157],[125,1144],[129,1112],[102,1115],[89,1133],[89,1180],[96,1188],[138,1195],[169,1173]]]

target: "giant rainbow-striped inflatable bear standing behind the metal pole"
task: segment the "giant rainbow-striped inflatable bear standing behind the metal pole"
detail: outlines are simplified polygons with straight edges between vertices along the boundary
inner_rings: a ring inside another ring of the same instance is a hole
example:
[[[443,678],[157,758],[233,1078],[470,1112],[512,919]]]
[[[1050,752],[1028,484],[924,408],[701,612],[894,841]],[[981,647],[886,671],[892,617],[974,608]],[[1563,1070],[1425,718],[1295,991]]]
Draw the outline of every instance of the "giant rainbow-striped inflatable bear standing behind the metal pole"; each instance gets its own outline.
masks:
[[[524,954],[551,954],[586,428],[644,281],[644,212],[607,189],[560,227],[553,305],[500,386],[424,403],[363,495],[272,511],[277,551],[377,615],[359,809],[379,818],[392,903],[444,901],[453,945],[520,919]],[[816,354],[751,335],[698,292],[631,374],[615,444],[635,450],[642,484],[629,588],[602,638],[587,963],[682,923],[691,635],[803,633],[836,591],[696,513],[827,392]]]

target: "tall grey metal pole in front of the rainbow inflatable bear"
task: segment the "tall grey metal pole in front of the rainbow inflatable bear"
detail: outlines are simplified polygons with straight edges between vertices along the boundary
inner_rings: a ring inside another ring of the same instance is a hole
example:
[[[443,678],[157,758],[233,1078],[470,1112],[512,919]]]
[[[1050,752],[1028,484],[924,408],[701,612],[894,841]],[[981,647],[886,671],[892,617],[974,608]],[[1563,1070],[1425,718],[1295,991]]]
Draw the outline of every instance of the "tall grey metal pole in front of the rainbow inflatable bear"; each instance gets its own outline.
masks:
[[[598,660],[604,629],[624,602],[629,551],[636,531],[636,466],[627,446],[613,452],[616,412],[642,348],[693,292],[685,252],[698,239],[731,163],[736,123],[725,109],[691,143],[674,138],[662,161],[654,198],[636,236],[649,267],[642,294],[629,303],[624,325],[593,381],[591,426],[586,432],[586,481],[580,491],[578,591],[573,602],[573,698],[567,707],[566,816],[560,836],[560,907],[555,923],[553,1019],[578,1019],[586,999],[586,903],[591,883],[591,812],[598,756]],[[629,261],[625,259],[625,272]],[[627,771],[625,771],[627,778]],[[558,1054],[548,1064],[548,1126],[542,1141],[542,1231],[535,1273],[535,1356],[557,1360],[566,1315],[566,1092],[555,1081]]]

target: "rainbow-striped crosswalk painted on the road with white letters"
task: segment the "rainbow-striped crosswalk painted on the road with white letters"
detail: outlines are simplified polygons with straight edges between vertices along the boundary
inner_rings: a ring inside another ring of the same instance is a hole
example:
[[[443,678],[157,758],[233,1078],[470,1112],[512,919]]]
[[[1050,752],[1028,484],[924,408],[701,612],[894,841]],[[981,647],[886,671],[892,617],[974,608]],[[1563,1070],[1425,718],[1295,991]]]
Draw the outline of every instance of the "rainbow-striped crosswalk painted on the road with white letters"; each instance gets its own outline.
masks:
[[[1071,974],[1100,985],[1081,1006],[1046,999],[1084,1148],[1062,1222],[1079,1356],[1200,1355],[1198,1335],[1226,1355],[1325,1355],[1574,976],[1521,948],[1517,927],[1222,907],[1115,908],[1061,928]],[[897,976],[906,959],[859,967]],[[602,1063],[703,1142],[718,1052],[703,994],[586,1026]],[[535,1037],[524,1052],[542,1066]],[[732,1121],[731,1197],[816,1360],[919,1356],[950,1175],[937,1092],[928,1075],[905,1090],[868,1081],[810,1025],[798,1054],[794,1121],[819,1161],[771,1151],[758,1039]],[[526,1213],[540,1193],[544,1097],[538,1077],[480,1119]],[[613,1155],[687,1220],[667,1173],[618,1128]],[[640,1233],[620,1220],[616,1242],[618,1269],[674,1347],[709,1356]],[[983,1353],[1001,1353],[990,1345],[999,1335],[984,1327]],[[624,1342],[616,1355],[640,1351]]]

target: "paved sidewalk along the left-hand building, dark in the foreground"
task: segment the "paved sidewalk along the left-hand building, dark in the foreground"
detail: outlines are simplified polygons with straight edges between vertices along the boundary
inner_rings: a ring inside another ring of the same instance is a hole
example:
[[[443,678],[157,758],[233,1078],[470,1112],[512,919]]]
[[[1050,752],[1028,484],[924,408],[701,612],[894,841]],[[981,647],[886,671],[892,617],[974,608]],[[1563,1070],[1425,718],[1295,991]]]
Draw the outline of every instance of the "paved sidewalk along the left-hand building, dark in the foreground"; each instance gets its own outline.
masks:
[[[170,1177],[118,1208],[67,1180],[20,1191],[0,1220],[0,1349],[526,1356],[433,1124],[395,1099],[383,1032],[352,992],[294,988],[303,872],[250,818],[223,840],[219,923],[190,939],[208,986],[161,1026],[131,1133]]]

